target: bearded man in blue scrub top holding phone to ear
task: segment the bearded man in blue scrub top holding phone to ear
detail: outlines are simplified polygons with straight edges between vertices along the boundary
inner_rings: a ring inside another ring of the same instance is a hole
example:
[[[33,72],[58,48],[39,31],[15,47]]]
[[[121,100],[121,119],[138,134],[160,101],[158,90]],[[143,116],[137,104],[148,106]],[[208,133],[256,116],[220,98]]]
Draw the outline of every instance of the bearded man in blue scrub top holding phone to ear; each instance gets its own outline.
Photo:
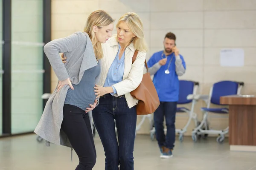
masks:
[[[175,34],[166,34],[164,51],[156,52],[148,60],[148,71],[154,75],[154,85],[160,100],[160,106],[154,112],[156,138],[161,158],[172,157],[175,143],[175,117],[179,99],[179,79],[186,70],[186,63],[175,44]],[[166,119],[167,133],[164,134],[163,119]]]

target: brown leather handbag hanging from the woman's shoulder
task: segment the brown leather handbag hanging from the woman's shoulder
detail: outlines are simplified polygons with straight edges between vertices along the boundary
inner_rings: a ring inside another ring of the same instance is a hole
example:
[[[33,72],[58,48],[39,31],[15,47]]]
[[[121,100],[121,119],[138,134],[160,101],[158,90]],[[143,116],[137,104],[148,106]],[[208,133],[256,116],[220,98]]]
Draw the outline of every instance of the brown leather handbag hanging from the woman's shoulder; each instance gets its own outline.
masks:
[[[132,57],[132,63],[134,63],[137,57],[138,51],[134,52]],[[134,99],[139,100],[136,105],[137,115],[147,115],[154,113],[154,111],[160,105],[160,101],[157,95],[157,90],[151,80],[150,74],[148,73],[148,65],[145,60],[145,66],[147,68],[147,73],[143,74],[143,79],[140,85],[130,94]]]

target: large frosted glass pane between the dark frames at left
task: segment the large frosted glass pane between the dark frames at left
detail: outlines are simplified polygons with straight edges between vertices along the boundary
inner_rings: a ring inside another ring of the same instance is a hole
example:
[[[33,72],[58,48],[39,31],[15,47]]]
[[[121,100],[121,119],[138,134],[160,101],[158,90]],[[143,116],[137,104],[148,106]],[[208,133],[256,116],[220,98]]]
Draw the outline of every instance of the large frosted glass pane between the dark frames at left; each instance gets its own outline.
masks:
[[[12,134],[34,131],[43,111],[43,0],[12,0]]]

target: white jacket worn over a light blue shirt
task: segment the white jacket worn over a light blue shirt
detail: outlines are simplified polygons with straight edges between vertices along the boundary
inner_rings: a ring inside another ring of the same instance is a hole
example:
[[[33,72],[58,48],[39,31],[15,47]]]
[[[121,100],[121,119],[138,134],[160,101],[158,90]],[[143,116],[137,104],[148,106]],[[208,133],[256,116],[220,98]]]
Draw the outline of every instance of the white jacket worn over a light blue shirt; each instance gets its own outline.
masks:
[[[107,79],[108,70],[111,67],[116,54],[118,52],[119,46],[115,37],[109,38],[109,40],[102,44],[104,57],[101,59],[101,76],[99,79],[99,85],[103,86]],[[129,108],[137,105],[138,100],[134,99],[130,92],[136,89],[142,80],[143,71],[144,71],[144,62],[146,58],[146,53],[139,51],[137,54],[137,58],[132,64],[132,57],[134,55],[134,45],[131,43],[125,49],[125,70],[122,82],[116,83],[113,87],[116,89],[117,95],[121,96],[125,95],[126,102]]]

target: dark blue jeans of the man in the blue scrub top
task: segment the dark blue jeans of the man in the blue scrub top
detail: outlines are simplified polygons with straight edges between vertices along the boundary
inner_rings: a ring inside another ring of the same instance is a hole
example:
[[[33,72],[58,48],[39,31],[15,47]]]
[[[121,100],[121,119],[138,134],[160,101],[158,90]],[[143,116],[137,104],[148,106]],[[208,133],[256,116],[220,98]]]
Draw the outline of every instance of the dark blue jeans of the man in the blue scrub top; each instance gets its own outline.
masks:
[[[165,146],[173,149],[175,143],[175,117],[177,102],[160,102],[154,112],[154,126],[159,147]],[[163,118],[166,118],[166,136],[163,129]]]

